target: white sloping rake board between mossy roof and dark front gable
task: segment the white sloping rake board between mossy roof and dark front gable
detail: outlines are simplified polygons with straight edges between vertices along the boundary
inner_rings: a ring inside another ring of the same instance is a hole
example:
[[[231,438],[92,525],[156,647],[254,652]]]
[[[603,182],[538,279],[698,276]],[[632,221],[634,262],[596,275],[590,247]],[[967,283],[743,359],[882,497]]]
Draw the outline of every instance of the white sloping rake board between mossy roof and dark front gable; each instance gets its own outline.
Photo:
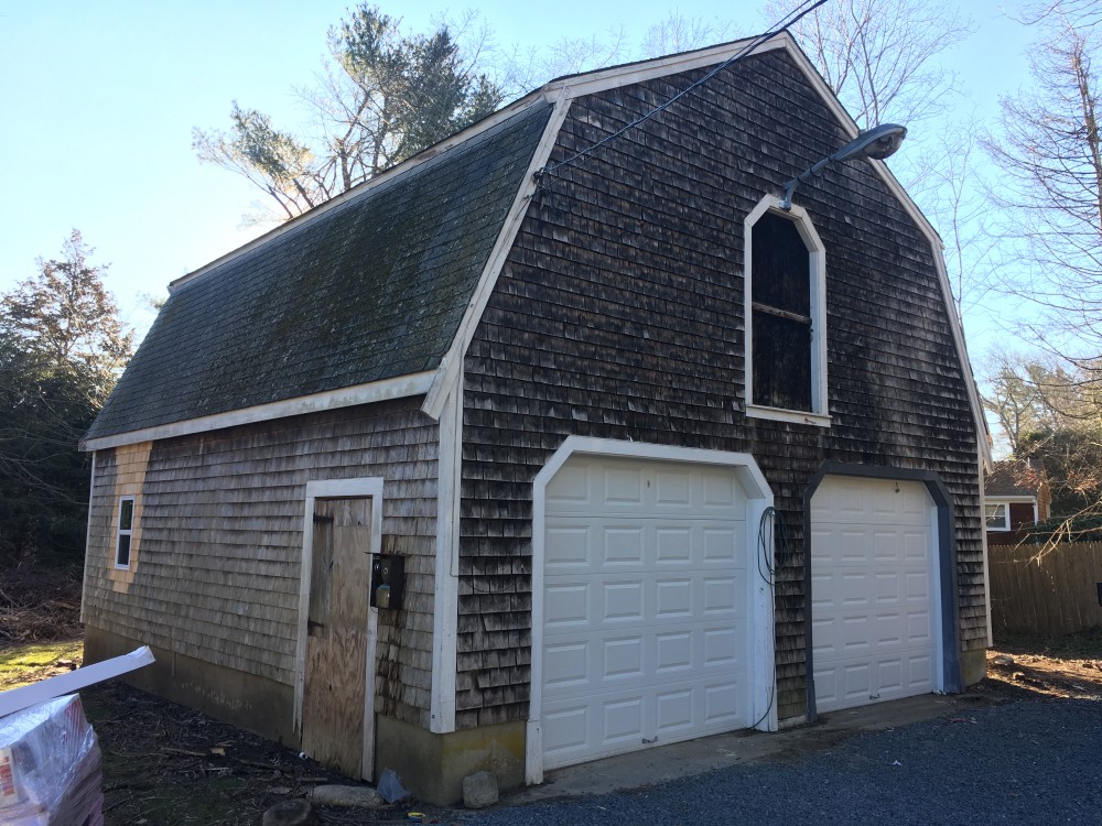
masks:
[[[440,368],[436,370],[432,387],[425,395],[424,404],[421,405],[421,410],[433,419],[440,419],[441,411],[444,407],[444,400],[454,389],[461,372],[463,358],[466,356],[471,340],[474,338],[475,329],[482,319],[483,311],[486,309],[486,303],[494,292],[498,275],[500,275],[509,251],[512,249],[512,242],[517,238],[517,232],[520,231],[520,225],[525,216],[528,214],[528,205],[536,193],[536,173],[547,164],[548,156],[551,154],[551,150],[554,148],[555,140],[559,137],[559,130],[562,128],[562,122],[566,119],[566,111],[570,108],[571,99],[572,96],[570,95],[569,87],[564,87],[559,93],[559,97],[554,102],[554,109],[552,109],[551,117],[548,119],[548,124],[543,130],[543,135],[540,138],[540,142],[532,153],[532,160],[525,171],[521,186],[512,199],[512,206],[509,207],[505,221],[501,224],[501,231],[497,236],[494,249],[490,251],[489,258],[486,260],[486,265],[478,276],[478,284],[472,294],[471,303],[467,304],[467,308],[463,313],[463,319],[460,322],[460,327],[452,339],[452,346],[447,348],[447,352],[440,362]]]

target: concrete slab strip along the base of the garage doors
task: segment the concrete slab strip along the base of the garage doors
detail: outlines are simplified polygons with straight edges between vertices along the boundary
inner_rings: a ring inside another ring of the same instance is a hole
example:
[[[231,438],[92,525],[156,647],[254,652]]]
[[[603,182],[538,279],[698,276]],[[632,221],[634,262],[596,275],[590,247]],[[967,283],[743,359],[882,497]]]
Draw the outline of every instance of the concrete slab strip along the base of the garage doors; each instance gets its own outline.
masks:
[[[656,746],[628,754],[590,763],[554,769],[541,785],[507,794],[506,805],[522,805],[558,797],[607,794],[625,789],[666,783],[728,765],[791,760],[812,751],[829,749],[840,740],[866,731],[885,731],[934,717],[959,715],[987,700],[975,695],[918,697],[877,703],[862,708],[832,711],[810,726],[774,733],[733,731],[699,740]]]

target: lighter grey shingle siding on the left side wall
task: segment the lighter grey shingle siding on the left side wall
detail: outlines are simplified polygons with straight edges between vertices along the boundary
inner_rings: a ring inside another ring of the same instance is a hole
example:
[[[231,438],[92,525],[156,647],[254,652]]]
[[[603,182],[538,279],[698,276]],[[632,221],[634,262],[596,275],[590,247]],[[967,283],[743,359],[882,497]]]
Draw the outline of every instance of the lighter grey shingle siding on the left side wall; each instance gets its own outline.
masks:
[[[380,612],[376,709],[426,726],[437,426],[420,401],[153,443],[133,491],[141,536],[132,575],[114,572],[110,556],[116,456],[123,452],[97,452],[85,582],[90,622],[293,685],[306,481],[380,476],[382,553],[406,556],[407,591],[401,611]],[[132,582],[123,587],[120,579]]]

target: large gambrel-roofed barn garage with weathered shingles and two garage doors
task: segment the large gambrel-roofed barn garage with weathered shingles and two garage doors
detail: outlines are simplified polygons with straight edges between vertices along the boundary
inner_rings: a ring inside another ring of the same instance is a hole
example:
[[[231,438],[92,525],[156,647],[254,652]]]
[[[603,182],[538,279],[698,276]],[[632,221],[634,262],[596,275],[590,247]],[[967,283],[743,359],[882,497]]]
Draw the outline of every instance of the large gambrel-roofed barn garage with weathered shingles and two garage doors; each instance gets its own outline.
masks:
[[[787,34],[704,79],[745,45],[552,81],[176,281],[84,442],[89,662],[435,802],[981,678],[940,241],[880,162],[777,208],[856,129]]]

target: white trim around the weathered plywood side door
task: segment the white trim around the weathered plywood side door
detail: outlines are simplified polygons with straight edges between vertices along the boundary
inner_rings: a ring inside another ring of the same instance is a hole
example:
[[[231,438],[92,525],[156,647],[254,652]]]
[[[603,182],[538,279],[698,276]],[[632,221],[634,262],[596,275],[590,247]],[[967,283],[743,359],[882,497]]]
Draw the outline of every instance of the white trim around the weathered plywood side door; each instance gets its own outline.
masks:
[[[359,479],[317,479],[306,482],[306,501],[302,521],[302,567],[299,574],[299,634],[294,651],[294,731],[302,738],[302,705],[306,686],[306,619],[310,613],[310,575],[314,561],[314,503],[318,499],[371,500],[371,553],[382,550],[382,477]],[[364,591],[364,599],[368,594]],[[378,637],[379,611],[367,612],[367,672],[364,691],[364,780],[371,780],[375,770],[375,646]]]

